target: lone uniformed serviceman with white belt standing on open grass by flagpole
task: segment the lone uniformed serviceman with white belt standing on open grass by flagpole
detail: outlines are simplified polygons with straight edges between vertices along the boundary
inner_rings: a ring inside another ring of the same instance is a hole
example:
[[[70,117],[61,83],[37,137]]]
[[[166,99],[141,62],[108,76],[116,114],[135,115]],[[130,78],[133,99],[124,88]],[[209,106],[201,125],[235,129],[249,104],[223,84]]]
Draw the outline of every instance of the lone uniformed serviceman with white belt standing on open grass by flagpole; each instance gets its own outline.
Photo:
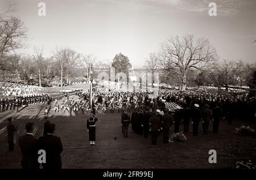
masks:
[[[98,118],[94,116],[94,114],[90,113],[91,117],[87,119],[87,131],[89,132],[89,142],[90,145],[96,145],[96,122]]]

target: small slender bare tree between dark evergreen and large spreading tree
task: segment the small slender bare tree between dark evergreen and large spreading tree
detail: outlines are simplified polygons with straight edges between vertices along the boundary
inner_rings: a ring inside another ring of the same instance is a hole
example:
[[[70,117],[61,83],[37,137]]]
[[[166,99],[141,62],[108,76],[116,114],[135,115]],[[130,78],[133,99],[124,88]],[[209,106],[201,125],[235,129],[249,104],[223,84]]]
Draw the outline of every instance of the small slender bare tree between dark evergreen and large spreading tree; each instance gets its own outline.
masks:
[[[147,67],[148,71],[150,71],[152,74],[151,75],[151,78],[152,78],[151,87],[153,87],[154,73],[155,73],[156,69],[160,67],[160,61],[159,61],[158,55],[156,55],[155,53],[150,53],[149,58],[146,59],[146,67]]]

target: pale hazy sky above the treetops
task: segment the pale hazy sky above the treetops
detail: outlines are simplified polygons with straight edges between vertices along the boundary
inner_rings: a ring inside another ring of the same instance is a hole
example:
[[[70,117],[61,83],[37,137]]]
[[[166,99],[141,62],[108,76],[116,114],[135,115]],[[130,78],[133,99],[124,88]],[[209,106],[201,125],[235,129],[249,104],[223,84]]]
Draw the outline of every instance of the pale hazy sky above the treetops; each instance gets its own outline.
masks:
[[[95,54],[112,61],[123,53],[134,67],[144,65],[151,52],[170,36],[193,34],[208,38],[220,59],[256,62],[255,0],[12,0],[28,28],[27,49],[44,48],[46,56],[56,46]],[[38,16],[38,3],[46,3],[46,16]],[[209,2],[217,16],[209,16]],[[0,12],[9,0],[0,0]]]

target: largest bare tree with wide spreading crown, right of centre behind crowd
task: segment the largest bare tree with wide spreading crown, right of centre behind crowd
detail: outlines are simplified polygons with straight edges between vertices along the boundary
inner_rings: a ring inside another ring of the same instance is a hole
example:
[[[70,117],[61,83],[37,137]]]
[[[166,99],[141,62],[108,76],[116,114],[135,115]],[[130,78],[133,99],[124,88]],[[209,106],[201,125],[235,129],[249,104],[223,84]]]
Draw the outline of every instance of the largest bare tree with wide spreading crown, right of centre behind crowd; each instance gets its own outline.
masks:
[[[216,50],[204,38],[187,35],[171,37],[160,51],[163,67],[174,71],[181,79],[181,90],[186,88],[187,72],[193,68],[203,70],[216,57]]]

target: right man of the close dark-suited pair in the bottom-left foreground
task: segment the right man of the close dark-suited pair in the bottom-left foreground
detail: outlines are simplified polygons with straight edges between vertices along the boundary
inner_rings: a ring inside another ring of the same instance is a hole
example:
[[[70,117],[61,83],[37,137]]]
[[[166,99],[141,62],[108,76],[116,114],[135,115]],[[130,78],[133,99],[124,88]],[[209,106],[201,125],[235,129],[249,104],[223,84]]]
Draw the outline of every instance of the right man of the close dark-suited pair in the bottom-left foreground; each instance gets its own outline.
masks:
[[[63,151],[62,143],[59,137],[53,135],[55,124],[49,125],[47,135],[38,139],[39,149],[46,151],[46,163],[43,164],[44,169],[61,169],[61,156]]]

